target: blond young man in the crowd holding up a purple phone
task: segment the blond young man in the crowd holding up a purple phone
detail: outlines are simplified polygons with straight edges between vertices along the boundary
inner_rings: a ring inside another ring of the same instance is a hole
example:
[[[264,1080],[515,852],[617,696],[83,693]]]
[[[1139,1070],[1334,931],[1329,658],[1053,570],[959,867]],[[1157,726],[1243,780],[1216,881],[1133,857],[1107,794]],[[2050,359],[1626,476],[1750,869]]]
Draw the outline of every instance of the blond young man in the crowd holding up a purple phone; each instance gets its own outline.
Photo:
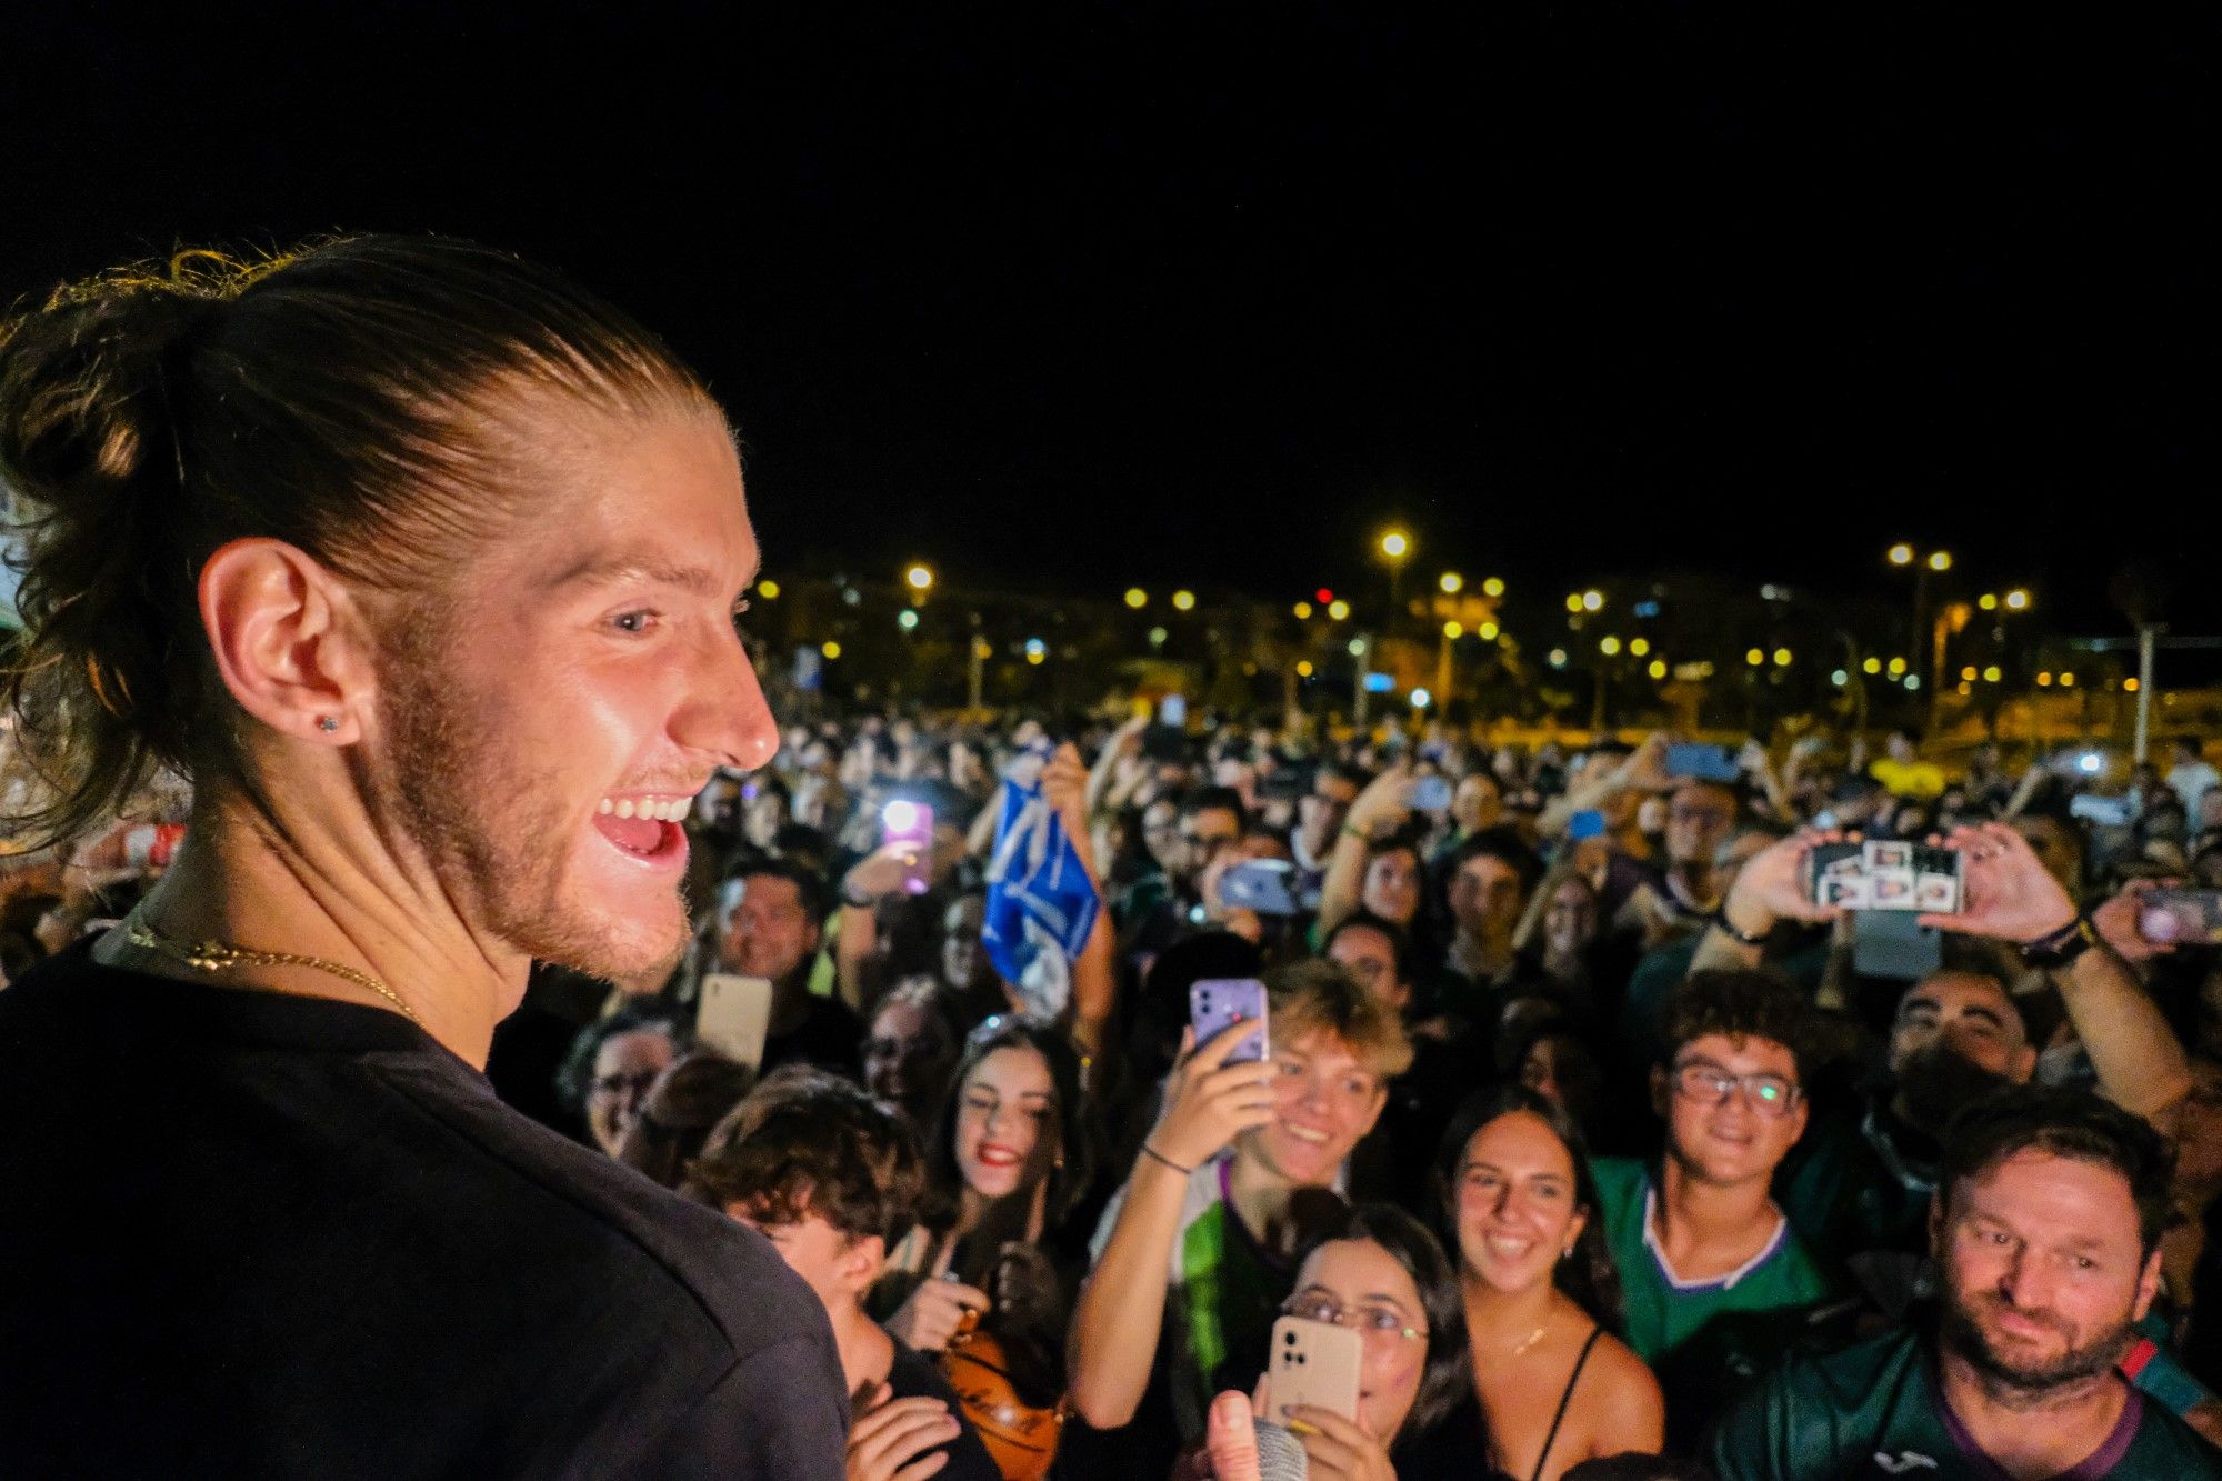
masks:
[[[1240,1023],[1189,1047],[1073,1312],[1075,1412],[1109,1430],[1160,1392],[1171,1434],[1135,1437],[1151,1461],[1202,1441],[1211,1394],[1262,1372],[1307,1219],[1411,1063],[1395,1014],[1340,967],[1295,963],[1267,985],[1271,1058],[1229,1063],[1253,1032]]]

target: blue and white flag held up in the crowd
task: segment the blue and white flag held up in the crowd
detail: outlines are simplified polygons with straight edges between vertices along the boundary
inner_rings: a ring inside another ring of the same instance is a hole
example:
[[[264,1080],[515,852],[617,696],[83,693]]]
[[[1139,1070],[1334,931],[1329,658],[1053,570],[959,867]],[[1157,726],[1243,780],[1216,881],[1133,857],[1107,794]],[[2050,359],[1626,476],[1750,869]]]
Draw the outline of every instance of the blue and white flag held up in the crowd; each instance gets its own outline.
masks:
[[[1040,783],[1002,783],[1002,816],[987,869],[980,945],[1031,1014],[1053,1018],[1073,992],[1073,958],[1095,930],[1095,881],[1080,865]]]

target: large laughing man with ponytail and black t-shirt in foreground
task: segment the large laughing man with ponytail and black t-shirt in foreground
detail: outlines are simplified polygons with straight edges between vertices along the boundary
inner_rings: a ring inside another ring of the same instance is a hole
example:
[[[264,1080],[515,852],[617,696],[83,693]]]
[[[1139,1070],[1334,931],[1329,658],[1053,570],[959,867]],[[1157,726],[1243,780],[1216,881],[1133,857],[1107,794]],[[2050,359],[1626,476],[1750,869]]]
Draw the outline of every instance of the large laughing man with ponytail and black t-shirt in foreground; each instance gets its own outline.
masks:
[[[18,836],[196,783],[0,998],[0,1472],[840,1474],[809,1292],[476,1072],[533,958],[675,954],[678,816],[775,747],[693,374],[467,242],[187,254],[0,327],[0,476]]]

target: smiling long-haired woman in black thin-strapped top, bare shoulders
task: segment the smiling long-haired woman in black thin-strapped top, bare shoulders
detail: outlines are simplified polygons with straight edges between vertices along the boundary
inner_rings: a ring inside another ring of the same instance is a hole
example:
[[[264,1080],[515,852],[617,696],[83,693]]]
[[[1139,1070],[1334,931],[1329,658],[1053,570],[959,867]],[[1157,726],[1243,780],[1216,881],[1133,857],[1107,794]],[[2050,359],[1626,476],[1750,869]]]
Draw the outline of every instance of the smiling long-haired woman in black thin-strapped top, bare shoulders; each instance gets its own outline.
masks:
[[[1573,1119],[1533,1090],[1487,1090],[1451,1119],[1438,1176],[1495,1465],[1558,1481],[1658,1450],[1660,1385],[1613,1336],[1620,1279]]]

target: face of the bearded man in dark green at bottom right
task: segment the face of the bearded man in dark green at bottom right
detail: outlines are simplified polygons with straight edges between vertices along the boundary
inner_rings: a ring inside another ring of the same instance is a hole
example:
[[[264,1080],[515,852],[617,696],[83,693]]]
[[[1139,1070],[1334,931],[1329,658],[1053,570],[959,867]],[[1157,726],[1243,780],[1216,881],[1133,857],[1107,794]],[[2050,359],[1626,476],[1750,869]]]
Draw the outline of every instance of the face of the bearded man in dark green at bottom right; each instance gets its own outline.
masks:
[[[2129,1179],[2024,1147],[1940,1194],[1929,1223],[1942,1341],[1984,1376],[2044,1390],[2104,1374],[2160,1288]]]

